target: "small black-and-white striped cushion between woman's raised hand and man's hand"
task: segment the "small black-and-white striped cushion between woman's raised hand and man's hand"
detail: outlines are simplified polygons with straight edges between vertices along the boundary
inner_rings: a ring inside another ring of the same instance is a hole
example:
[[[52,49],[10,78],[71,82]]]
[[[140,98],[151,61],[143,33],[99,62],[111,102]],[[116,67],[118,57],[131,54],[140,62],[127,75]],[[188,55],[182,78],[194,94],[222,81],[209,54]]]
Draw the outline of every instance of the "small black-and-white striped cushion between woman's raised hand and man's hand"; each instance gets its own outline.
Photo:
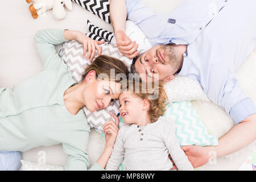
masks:
[[[101,38],[108,40],[109,42],[111,42],[114,37],[113,32],[109,32],[109,31],[103,30],[102,28],[94,26],[94,24],[90,23],[89,20],[87,20],[87,27],[90,32],[100,36]]]

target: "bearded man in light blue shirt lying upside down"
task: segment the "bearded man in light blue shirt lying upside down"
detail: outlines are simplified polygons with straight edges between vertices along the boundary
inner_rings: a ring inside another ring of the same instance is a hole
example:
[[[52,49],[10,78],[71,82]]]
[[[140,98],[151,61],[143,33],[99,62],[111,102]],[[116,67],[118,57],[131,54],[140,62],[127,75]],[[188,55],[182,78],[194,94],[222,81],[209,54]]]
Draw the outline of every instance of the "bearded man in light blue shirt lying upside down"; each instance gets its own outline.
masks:
[[[170,14],[155,14],[139,0],[110,1],[110,18],[119,51],[134,59],[142,80],[170,81],[175,74],[201,84],[210,100],[233,118],[234,125],[218,146],[182,147],[193,167],[240,150],[256,139],[256,106],[243,93],[235,73],[256,46],[256,2],[184,1]],[[138,45],[123,33],[126,19],[136,23],[152,47],[139,55]]]

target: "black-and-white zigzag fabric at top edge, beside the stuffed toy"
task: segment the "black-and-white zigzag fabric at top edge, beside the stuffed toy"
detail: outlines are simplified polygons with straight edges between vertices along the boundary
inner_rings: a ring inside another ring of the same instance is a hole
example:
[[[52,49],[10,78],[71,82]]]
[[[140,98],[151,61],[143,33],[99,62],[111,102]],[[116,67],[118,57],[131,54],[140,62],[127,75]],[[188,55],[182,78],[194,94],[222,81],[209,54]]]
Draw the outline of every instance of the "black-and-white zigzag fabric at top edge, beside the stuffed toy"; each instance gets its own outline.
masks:
[[[109,0],[72,0],[82,8],[110,23]]]

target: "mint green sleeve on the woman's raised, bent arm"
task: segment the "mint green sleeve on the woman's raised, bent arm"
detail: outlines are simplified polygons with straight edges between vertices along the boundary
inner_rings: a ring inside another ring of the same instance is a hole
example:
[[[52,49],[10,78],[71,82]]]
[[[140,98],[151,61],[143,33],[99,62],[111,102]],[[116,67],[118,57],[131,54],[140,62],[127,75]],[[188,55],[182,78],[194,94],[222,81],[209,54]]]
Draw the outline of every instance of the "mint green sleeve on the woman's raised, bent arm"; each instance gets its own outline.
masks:
[[[64,38],[64,30],[40,30],[36,32],[34,39],[43,69],[59,69],[61,64],[67,67],[55,48],[55,45],[68,41]]]

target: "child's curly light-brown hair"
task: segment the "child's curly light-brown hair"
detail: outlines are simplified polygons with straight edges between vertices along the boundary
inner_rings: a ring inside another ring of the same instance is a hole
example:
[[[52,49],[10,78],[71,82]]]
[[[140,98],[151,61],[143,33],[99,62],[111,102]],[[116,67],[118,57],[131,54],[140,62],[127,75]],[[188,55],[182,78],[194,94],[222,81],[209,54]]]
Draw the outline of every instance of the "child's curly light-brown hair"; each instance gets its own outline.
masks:
[[[151,122],[156,122],[166,111],[166,104],[168,103],[168,97],[163,84],[164,82],[146,83],[141,80],[127,80],[126,85],[122,87],[122,92],[128,90],[142,100],[148,100],[150,104],[148,114],[150,115]]]

